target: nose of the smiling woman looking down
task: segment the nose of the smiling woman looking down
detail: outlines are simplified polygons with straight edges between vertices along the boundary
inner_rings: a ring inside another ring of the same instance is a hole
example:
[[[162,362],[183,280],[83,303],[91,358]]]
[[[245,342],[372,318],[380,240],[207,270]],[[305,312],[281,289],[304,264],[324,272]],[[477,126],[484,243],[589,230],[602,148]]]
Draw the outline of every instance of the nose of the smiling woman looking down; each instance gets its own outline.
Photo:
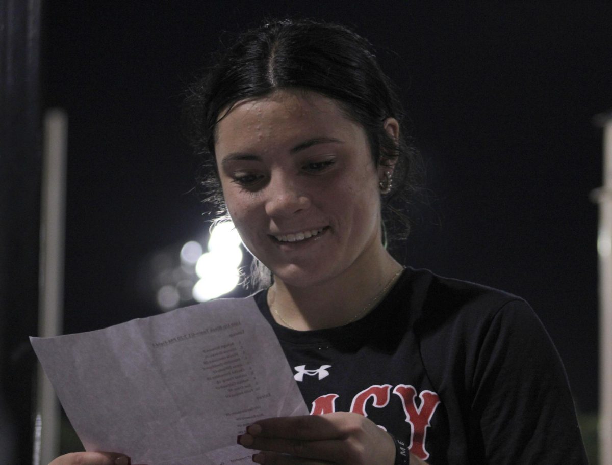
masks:
[[[310,207],[310,197],[293,177],[277,175],[267,186],[266,213],[271,218],[288,218]]]

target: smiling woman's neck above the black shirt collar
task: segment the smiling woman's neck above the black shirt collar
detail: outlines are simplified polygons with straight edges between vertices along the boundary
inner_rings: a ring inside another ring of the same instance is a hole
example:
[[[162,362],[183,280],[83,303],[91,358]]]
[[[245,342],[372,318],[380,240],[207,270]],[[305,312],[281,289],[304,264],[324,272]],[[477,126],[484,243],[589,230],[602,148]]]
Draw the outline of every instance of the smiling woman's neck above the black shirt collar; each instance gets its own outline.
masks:
[[[403,268],[384,251],[375,263],[355,263],[333,279],[297,287],[275,278],[268,304],[277,323],[300,331],[335,328],[367,315]]]

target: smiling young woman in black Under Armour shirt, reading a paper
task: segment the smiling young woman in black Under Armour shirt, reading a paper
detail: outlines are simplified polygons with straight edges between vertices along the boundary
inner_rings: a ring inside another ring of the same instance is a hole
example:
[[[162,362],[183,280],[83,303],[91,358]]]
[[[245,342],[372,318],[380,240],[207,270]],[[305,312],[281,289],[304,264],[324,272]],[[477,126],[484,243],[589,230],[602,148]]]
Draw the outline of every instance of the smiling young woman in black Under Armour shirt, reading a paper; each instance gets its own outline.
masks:
[[[404,268],[383,206],[416,191],[402,113],[368,43],[280,21],[242,35],[187,113],[311,416],[261,420],[260,464],[586,464],[572,397],[528,304]],[[53,465],[125,463],[76,453]]]

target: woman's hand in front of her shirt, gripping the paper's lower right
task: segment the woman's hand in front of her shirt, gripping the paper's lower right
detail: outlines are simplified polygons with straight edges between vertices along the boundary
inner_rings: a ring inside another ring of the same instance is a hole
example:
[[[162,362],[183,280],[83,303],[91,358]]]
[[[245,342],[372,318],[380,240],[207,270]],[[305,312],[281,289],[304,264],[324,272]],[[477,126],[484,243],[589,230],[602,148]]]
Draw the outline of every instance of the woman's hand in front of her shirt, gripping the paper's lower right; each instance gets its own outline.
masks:
[[[238,444],[261,450],[253,461],[266,465],[395,463],[391,436],[366,417],[348,412],[259,420]]]

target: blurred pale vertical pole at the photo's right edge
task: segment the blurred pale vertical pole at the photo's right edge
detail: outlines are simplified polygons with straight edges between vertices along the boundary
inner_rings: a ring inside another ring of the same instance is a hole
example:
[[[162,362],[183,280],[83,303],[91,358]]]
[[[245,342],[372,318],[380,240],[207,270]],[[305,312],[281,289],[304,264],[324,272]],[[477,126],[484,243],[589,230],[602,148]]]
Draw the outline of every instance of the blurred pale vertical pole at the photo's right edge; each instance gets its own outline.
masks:
[[[599,195],[599,463],[612,465],[612,115],[603,134],[603,188]]]

